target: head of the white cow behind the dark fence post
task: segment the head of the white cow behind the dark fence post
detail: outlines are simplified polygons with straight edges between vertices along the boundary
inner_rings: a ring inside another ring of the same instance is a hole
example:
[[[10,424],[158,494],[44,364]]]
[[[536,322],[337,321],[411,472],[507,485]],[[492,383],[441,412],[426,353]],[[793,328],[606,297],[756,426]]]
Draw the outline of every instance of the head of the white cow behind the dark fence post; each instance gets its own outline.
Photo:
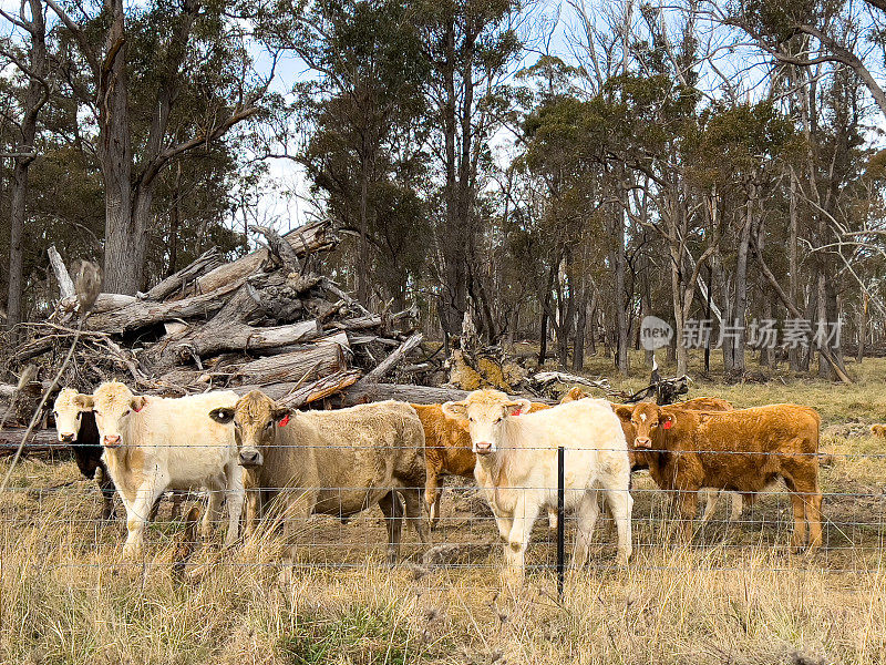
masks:
[[[467,421],[471,443],[478,456],[490,454],[501,448],[503,429],[508,418],[527,413],[528,399],[512,399],[498,390],[475,390],[463,401],[442,406],[446,418]]]

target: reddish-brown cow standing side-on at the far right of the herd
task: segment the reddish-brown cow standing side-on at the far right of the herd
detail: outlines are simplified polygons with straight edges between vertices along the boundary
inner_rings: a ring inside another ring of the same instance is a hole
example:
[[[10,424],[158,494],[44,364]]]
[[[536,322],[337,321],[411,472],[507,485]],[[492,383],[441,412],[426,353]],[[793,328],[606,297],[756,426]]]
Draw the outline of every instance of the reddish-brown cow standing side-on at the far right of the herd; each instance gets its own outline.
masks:
[[[822,544],[818,487],[821,418],[808,407],[770,405],[728,412],[693,411],[683,406],[633,407],[633,446],[662,489],[676,492],[684,539],[691,535],[697,492],[715,488],[753,497],[782,478],[794,508],[792,544]]]

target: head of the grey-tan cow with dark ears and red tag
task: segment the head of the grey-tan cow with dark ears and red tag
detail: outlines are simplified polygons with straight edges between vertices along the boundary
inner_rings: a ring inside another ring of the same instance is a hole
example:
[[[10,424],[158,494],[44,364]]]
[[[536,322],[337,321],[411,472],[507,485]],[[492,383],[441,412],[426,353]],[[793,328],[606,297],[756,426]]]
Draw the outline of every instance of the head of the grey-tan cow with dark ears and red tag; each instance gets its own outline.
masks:
[[[216,422],[227,424],[234,421],[238,462],[244,469],[256,469],[265,463],[265,453],[276,443],[277,428],[286,427],[292,416],[291,409],[278,407],[259,390],[244,395],[234,408],[220,407],[209,411],[209,418]]]

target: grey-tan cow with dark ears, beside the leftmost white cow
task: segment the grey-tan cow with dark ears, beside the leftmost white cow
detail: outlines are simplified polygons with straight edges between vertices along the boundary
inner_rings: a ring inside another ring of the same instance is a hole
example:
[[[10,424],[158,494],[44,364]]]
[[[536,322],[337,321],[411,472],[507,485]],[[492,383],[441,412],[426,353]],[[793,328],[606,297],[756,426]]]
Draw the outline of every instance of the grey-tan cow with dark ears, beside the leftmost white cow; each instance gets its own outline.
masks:
[[[258,390],[231,408],[214,409],[217,422],[234,421],[239,464],[247,489],[247,535],[266,508],[282,514],[291,561],[296,529],[311,514],[342,521],[378,504],[388,526],[388,557],[400,551],[403,497],[405,516],[422,543],[424,432],[409,405],[382,401],[334,411],[295,411]],[[266,505],[274,502],[270,505]]]

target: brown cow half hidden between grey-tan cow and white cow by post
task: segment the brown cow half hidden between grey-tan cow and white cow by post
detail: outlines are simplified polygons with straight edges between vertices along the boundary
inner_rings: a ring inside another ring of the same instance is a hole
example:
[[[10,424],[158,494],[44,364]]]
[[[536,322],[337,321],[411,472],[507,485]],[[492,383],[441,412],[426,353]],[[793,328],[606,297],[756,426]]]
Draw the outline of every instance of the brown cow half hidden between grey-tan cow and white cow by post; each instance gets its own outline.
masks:
[[[440,498],[443,494],[443,477],[461,475],[474,478],[477,456],[471,450],[471,434],[463,421],[446,418],[441,405],[412,405],[424,428],[425,485],[424,502],[431,529],[440,521]],[[549,409],[542,403],[533,403],[529,412]],[[556,526],[556,512],[552,529]]]

